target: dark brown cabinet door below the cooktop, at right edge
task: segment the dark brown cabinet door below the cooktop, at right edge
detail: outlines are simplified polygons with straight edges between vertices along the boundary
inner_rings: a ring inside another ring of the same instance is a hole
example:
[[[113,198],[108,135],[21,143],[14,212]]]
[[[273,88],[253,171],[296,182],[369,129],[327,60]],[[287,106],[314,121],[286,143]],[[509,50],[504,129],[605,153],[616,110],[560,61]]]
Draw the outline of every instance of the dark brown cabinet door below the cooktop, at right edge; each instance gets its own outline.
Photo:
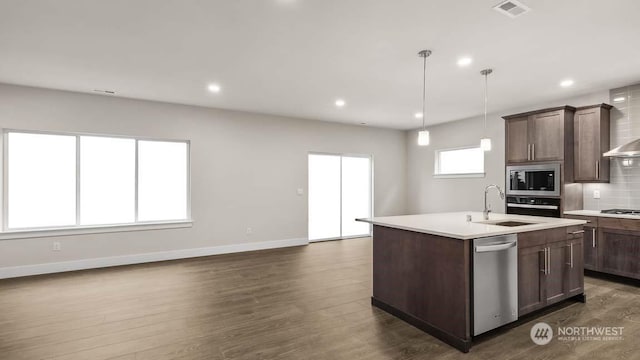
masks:
[[[637,231],[600,228],[599,271],[640,279],[640,236]]]

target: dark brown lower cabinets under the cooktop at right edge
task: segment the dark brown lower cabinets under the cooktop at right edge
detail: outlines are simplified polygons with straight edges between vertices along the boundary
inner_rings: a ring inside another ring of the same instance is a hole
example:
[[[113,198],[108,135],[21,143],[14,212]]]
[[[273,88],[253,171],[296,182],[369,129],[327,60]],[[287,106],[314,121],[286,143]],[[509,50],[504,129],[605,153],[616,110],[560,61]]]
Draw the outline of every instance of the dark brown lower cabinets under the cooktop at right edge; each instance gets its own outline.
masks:
[[[640,220],[567,215],[586,220],[584,268],[640,279]]]

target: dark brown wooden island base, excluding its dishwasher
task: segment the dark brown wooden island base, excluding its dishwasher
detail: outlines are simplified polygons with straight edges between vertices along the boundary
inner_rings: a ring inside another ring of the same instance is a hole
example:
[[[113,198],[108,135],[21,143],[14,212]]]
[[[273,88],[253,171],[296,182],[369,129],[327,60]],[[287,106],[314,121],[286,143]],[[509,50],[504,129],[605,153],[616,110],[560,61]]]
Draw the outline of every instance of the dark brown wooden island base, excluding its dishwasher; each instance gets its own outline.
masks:
[[[372,223],[372,305],[468,352],[473,239]],[[575,224],[518,232],[518,316],[569,298],[584,302],[583,234]]]

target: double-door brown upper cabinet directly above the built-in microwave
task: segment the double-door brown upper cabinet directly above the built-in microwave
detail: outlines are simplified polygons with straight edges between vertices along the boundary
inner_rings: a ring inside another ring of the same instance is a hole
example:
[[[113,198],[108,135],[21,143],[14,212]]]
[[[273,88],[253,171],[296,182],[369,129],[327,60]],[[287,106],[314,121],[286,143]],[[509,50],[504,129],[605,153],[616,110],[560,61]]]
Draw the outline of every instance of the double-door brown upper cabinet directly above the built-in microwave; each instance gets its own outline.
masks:
[[[507,164],[573,160],[573,115],[563,106],[504,116]]]

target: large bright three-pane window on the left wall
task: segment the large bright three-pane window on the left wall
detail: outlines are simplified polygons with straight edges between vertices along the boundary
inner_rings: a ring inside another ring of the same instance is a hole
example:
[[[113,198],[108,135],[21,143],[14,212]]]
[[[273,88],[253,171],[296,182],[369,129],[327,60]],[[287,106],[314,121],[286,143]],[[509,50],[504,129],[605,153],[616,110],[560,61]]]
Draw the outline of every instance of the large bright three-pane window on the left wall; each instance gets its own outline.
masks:
[[[5,230],[187,220],[189,143],[5,131]]]

